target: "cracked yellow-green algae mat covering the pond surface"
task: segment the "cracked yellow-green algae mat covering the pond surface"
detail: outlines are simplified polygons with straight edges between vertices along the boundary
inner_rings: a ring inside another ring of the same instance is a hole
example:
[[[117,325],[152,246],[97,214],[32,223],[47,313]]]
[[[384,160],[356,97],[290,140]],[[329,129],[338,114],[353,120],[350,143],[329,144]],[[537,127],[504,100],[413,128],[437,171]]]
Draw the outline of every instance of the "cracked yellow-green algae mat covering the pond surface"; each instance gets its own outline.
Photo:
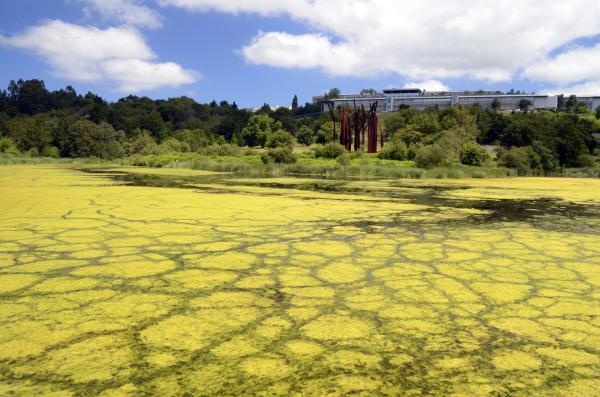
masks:
[[[259,182],[0,167],[0,395],[600,395],[599,181]]]

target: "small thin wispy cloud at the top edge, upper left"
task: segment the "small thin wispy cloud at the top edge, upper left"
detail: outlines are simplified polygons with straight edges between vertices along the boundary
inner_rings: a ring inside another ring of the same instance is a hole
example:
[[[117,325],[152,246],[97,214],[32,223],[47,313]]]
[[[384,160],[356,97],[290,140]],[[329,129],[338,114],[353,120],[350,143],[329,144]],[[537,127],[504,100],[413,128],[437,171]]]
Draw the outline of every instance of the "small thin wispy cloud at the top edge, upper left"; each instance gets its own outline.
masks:
[[[162,26],[162,17],[140,0],[79,0],[85,3],[84,13],[98,13],[106,21],[117,21],[129,26],[156,29]]]

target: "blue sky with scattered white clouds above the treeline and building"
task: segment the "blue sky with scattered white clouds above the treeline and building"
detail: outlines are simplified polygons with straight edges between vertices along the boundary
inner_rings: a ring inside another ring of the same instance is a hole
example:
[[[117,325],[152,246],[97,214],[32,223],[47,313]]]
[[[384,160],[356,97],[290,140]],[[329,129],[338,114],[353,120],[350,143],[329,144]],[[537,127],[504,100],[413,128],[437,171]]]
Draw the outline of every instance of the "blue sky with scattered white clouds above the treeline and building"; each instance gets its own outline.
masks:
[[[289,106],[331,87],[600,94],[597,2],[486,3],[3,1],[0,84],[40,78],[110,100],[187,95],[243,107]]]

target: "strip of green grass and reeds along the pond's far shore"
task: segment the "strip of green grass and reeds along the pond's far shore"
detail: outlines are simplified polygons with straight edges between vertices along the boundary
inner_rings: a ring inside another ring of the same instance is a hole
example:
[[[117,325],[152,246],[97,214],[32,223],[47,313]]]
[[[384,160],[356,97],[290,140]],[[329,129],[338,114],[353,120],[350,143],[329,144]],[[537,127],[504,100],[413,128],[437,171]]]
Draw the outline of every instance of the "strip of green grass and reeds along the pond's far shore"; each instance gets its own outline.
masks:
[[[412,161],[380,160],[363,155],[352,159],[350,165],[340,165],[335,160],[315,159],[300,155],[295,164],[263,164],[260,156],[251,153],[242,156],[202,156],[196,153],[130,156],[114,160],[90,158],[50,158],[0,155],[0,165],[10,164],[105,164],[119,166],[145,166],[151,168],[183,168],[214,172],[229,172],[251,177],[317,176],[331,179],[464,179],[505,177],[567,177],[599,178],[600,168],[565,168],[558,172],[540,175],[531,172],[517,175],[504,167],[436,167],[418,168]]]

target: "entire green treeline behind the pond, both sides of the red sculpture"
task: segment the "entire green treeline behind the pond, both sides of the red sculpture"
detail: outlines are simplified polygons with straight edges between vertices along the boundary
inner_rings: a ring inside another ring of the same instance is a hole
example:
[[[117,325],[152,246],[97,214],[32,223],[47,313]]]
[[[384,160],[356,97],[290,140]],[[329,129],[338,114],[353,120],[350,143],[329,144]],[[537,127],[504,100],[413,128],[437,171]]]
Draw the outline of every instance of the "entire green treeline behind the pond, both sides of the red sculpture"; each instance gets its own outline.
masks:
[[[339,95],[333,91],[327,95]],[[386,144],[378,156],[414,160],[423,168],[496,161],[522,174],[598,166],[600,109],[594,115],[574,96],[559,102],[558,112],[401,109],[382,116]],[[315,157],[344,155],[331,142],[334,122],[320,105],[299,106],[297,97],[291,104],[276,110],[265,104],[253,112],[235,102],[200,104],[187,97],[107,102],[72,87],[49,91],[41,80],[11,81],[0,90],[0,153],[111,159],[169,152],[223,155],[237,146],[260,146],[270,149],[265,162],[294,162],[293,145],[317,143],[327,146],[315,148]]]

